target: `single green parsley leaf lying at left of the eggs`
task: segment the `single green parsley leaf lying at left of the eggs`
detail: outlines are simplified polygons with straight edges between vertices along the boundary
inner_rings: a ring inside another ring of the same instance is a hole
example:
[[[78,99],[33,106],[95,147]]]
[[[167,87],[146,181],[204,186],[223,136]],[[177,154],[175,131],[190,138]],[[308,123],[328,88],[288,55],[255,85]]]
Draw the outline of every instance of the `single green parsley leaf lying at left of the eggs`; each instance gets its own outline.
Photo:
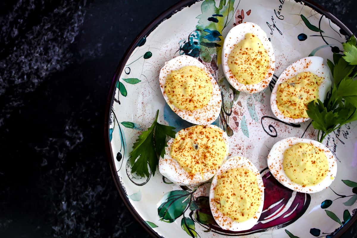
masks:
[[[166,136],[175,138],[175,127],[161,125],[157,122],[158,116],[159,110],[152,125],[139,135],[130,152],[131,173],[136,173],[140,177],[149,177],[150,173],[155,174],[159,157],[165,155]]]

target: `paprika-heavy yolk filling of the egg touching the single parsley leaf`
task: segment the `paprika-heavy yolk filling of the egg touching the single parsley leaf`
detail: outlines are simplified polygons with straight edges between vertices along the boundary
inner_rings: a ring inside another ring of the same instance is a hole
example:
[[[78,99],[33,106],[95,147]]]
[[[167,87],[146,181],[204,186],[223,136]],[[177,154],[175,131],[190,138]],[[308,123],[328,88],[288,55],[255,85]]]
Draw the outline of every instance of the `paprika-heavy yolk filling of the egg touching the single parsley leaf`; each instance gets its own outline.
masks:
[[[227,153],[222,131],[207,126],[192,126],[178,132],[170,155],[191,176],[216,173]]]

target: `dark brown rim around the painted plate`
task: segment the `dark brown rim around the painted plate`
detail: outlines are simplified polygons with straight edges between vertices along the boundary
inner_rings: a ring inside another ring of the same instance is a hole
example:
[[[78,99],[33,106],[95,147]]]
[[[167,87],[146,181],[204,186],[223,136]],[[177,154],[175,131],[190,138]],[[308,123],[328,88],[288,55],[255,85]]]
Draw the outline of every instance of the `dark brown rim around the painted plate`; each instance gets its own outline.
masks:
[[[119,80],[119,76],[121,75],[122,71],[124,70],[124,66],[126,61],[129,59],[131,53],[135,50],[137,45],[139,44],[140,40],[144,37],[147,37],[153,30],[156,29],[157,26],[159,26],[163,21],[169,19],[172,15],[176,14],[178,11],[182,10],[185,7],[191,6],[195,4],[196,2],[203,1],[203,0],[182,0],[177,2],[176,4],[172,5],[165,11],[163,11],[160,15],[155,17],[154,20],[152,20],[145,28],[135,37],[133,42],[130,44],[130,46],[127,48],[125,51],[124,55],[122,56],[119,65],[116,68],[115,74],[112,78],[111,85],[110,85],[110,90],[109,94],[107,96],[107,103],[105,107],[105,116],[104,116],[104,143],[105,143],[105,150],[106,150],[106,155],[107,159],[110,165],[110,171],[112,174],[112,178],[115,183],[115,187],[117,188],[119,195],[124,202],[125,206],[127,209],[130,211],[132,216],[136,219],[136,221],[147,231],[152,237],[156,238],[164,238],[160,236],[156,231],[154,231],[153,228],[150,228],[147,226],[145,223],[144,219],[137,213],[135,208],[131,205],[129,198],[125,195],[125,189],[121,185],[121,182],[119,180],[119,176],[117,176],[117,172],[115,169],[115,157],[112,153],[111,149],[111,143],[109,140],[109,120],[110,120],[110,115],[111,115],[111,106],[114,101],[114,92],[116,88],[116,83]],[[316,12],[325,15],[328,19],[330,19],[333,23],[335,23],[337,26],[339,26],[341,29],[343,29],[348,36],[353,35],[352,31],[345,26],[337,17],[332,15],[329,11],[327,11],[324,7],[321,5],[317,4],[316,2],[312,0],[293,0],[295,2],[301,2],[302,4],[311,7],[313,10]],[[344,224],[335,234],[332,238],[338,238],[341,237],[343,233],[347,231],[348,228],[351,227],[353,223],[357,221],[357,213],[352,216],[352,218],[347,222],[348,224]]]

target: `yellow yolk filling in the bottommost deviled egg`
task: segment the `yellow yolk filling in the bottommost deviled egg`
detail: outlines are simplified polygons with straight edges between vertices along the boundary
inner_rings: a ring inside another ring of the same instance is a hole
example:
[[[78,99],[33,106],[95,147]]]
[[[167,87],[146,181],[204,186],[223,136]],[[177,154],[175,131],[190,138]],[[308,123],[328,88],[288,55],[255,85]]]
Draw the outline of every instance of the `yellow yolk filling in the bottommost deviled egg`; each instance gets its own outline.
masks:
[[[246,168],[228,169],[217,177],[214,201],[223,216],[234,221],[254,217],[261,203],[257,176]]]

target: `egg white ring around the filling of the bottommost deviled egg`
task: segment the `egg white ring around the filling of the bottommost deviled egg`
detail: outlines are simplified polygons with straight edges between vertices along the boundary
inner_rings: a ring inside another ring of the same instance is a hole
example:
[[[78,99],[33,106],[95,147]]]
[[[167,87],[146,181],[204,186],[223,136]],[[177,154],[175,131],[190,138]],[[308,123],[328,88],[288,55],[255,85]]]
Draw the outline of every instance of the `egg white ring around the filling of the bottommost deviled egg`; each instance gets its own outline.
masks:
[[[246,168],[251,170],[257,177],[258,187],[262,191],[261,196],[261,203],[260,206],[255,213],[255,216],[248,219],[244,222],[236,222],[232,218],[224,216],[217,208],[216,203],[213,201],[215,198],[215,187],[217,186],[217,176],[220,176],[222,173],[226,172],[228,169],[233,168]],[[222,164],[221,168],[218,169],[215,177],[212,179],[212,184],[210,188],[210,207],[212,215],[217,222],[218,226],[222,229],[229,230],[229,231],[245,231],[252,228],[258,221],[264,204],[264,184],[262,176],[260,175],[258,169],[254,166],[254,164],[245,157],[231,157],[227,159],[225,163]],[[254,218],[255,217],[255,218]]]

